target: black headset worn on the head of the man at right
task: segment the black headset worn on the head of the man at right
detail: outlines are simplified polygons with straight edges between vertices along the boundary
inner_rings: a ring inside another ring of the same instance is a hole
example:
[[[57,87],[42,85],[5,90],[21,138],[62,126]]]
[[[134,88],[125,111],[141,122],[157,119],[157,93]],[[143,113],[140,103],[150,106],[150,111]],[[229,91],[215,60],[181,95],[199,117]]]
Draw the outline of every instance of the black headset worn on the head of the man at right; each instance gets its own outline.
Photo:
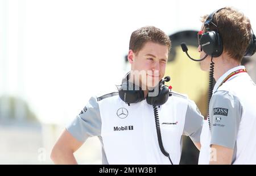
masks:
[[[216,14],[218,11],[222,9],[225,9],[225,8],[218,9],[212,12],[212,14],[208,16],[207,20],[205,20],[204,22],[205,33],[199,33],[199,35],[201,35],[199,38],[199,44],[200,44],[201,50],[203,49],[203,51],[207,55],[210,55],[212,57],[218,57],[223,52],[223,45],[222,45],[221,37],[218,33],[218,27],[216,26],[216,24],[212,22],[214,14]],[[217,31],[210,31],[209,30],[210,24],[213,24],[217,28]],[[253,33],[253,30],[251,30],[250,43],[246,49],[244,57],[253,56],[255,51],[256,51],[256,37]]]

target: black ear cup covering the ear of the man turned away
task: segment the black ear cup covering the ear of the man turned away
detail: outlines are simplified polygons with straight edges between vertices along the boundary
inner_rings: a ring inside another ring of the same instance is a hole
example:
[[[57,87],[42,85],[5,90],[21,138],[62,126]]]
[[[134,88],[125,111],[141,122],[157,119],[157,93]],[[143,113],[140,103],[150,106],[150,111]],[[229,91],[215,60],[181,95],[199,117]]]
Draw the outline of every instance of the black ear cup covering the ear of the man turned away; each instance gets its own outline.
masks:
[[[200,45],[201,49],[209,56],[218,57],[223,52],[221,37],[216,31],[203,33],[200,38]]]

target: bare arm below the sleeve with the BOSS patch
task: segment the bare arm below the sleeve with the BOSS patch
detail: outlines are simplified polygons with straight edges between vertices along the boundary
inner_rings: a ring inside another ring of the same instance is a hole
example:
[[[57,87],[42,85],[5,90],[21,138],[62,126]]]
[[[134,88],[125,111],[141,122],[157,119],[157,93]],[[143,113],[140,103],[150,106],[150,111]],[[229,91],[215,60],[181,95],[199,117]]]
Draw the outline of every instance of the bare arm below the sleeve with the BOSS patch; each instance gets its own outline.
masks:
[[[210,165],[230,165],[232,163],[234,150],[221,145],[211,146]],[[214,156],[215,155],[215,156]]]

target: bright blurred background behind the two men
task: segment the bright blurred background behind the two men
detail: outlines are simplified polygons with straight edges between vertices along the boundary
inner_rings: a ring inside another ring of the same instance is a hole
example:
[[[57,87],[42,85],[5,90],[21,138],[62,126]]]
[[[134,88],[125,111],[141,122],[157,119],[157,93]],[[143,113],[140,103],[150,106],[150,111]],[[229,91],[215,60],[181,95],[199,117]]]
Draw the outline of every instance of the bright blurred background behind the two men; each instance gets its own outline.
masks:
[[[166,75],[173,90],[207,112],[208,73],[199,58],[200,16],[224,6],[241,10],[256,29],[250,0],[0,0],[0,164],[53,164],[52,146],[93,95],[121,83],[131,32],[155,26],[170,35]],[[256,79],[256,58],[244,60]],[[180,164],[197,164],[199,152],[183,139]],[[79,164],[101,164],[92,137],[75,153]]]

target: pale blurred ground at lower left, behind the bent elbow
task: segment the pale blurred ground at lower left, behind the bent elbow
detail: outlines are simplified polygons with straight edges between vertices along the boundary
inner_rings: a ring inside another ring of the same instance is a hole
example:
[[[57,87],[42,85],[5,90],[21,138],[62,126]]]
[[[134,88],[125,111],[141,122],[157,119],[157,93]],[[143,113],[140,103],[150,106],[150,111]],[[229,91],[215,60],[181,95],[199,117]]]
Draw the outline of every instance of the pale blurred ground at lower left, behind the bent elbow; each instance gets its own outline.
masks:
[[[0,164],[53,164],[49,158],[63,127],[0,121]],[[50,130],[49,130],[50,129]],[[97,137],[88,139],[75,153],[79,164],[101,164],[101,146]]]

